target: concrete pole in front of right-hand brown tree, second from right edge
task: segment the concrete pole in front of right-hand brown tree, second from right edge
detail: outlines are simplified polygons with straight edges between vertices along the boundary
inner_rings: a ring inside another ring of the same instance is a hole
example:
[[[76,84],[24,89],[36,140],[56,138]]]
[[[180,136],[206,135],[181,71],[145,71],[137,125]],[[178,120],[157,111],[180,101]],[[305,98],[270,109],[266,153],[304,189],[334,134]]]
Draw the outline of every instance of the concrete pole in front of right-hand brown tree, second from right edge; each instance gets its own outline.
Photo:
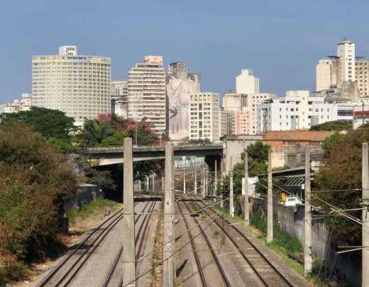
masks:
[[[305,147],[305,235],[304,235],[304,274],[312,272],[312,193],[310,185],[310,147]]]

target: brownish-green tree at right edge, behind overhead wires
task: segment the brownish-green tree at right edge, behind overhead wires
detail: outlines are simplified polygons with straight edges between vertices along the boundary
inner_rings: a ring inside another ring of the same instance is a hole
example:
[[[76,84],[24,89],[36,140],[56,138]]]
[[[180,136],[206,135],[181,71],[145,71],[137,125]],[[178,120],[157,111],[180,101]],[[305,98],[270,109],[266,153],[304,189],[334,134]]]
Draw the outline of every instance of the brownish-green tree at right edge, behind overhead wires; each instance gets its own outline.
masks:
[[[333,137],[333,136],[332,136]],[[329,157],[324,168],[316,174],[314,188],[332,192],[317,193],[316,196],[342,209],[360,208],[361,191],[361,157],[362,143],[369,142],[369,125],[362,125],[348,135],[336,135],[326,144]],[[338,216],[325,203],[315,199],[314,205],[321,206],[323,213],[328,214],[327,222],[339,238],[360,243],[361,232],[351,221]],[[361,211],[352,211],[351,215],[361,218]]]

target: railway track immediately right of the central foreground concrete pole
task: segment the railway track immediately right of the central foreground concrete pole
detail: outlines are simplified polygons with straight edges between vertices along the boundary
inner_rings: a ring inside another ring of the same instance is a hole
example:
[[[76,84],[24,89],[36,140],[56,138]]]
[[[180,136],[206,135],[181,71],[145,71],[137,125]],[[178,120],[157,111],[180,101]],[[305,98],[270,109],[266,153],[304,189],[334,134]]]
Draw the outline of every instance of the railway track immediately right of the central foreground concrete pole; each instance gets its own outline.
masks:
[[[182,203],[185,206],[185,208],[188,210],[188,213],[191,213],[192,211],[187,206],[187,203],[184,203],[184,202],[182,202]],[[180,209],[180,213],[182,213],[182,208],[180,207],[180,203],[177,203],[177,204],[178,204],[178,208]],[[189,237],[190,237],[190,240],[191,240],[192,249],[194,251],[194,254],[196,254],[195,259],[197,258],[196,259],[196,261],[197,261],[197,268],[199,270],[199,274],[200,274],[200,277],[201,277],[202,286],[211,286],[211,284],[207,283],[207,281],[205,279],[204,272],[202,270],[202,266],[201,266],[201,263],[200,263],[200,260],[199,260],[199,256],[198,256],[198,254],[196,252],[196,247],[195,247],[195,244],[194,244],[194,240],[192,238],[191,231],[189,230],[189,225],[187,223],[187,218],[184,217],[183,213],[182,213],[182,218],[183,218],[184,223],[186,225],[186,228],[188,230],[188,234],[189,234]],[[196,218],[193,218],[193,219],[194,219],[194,222],[199,227],[199,230],[202,233],[202,237],[204,238],[204,240],[206,242],[206,245],[207,245],[207,247],[209,248],[209,250],[211,252],[211,257],[214,259],[214,262],[216,264],[216,269],[218,269],[219,274],[221,275],[221,279],[223,280],[225,286],[231,286],[231,283],[228,281],[228,278],[226,276],[226,272],[224,271],[223,266],[221,266],[221,263],[220,263],[219,258],[217,257],[217,255],[216,255],[216,253],[214,251],[214,248],[211,246],[211,243],[209,241],[209,238],[205,234],[204,229],[202,228],[202,226],[199,225],[199,220],[197,220]]]

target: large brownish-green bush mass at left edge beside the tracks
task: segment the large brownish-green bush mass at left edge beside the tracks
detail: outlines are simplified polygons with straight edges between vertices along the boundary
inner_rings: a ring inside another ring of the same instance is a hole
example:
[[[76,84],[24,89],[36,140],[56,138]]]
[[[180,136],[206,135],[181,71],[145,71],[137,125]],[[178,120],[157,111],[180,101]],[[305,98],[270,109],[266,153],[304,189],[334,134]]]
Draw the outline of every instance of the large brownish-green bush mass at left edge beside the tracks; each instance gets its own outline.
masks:
[[[68,158],[43,136],[22,123],[1,126],[0,285],[20,276],[23,261],[47,254],[76,189]]]

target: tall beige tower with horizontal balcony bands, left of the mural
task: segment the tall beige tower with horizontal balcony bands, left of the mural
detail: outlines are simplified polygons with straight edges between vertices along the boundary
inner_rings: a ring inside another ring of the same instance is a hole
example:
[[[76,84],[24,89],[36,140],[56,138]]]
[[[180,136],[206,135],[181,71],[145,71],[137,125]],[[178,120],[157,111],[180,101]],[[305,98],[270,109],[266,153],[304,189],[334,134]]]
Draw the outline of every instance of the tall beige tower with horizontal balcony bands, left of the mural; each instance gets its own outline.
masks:
[[[146,56],[143,63],[135,64],[128,72],[127,88],[128,118],[145,118],[152,130],[166,134],[163,57]]]

